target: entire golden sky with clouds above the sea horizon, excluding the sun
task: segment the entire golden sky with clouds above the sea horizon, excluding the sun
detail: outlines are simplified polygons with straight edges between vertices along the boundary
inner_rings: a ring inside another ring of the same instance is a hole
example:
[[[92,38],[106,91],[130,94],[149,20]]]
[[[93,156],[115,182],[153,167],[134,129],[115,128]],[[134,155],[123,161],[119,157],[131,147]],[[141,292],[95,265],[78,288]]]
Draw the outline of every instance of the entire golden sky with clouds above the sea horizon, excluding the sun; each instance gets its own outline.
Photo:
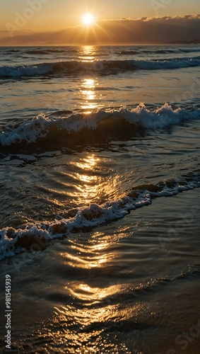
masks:
[[[0,6],[0,45],[200,39],[199,0],[0,0]],[[83,25],[89,12],[95,23]]]

